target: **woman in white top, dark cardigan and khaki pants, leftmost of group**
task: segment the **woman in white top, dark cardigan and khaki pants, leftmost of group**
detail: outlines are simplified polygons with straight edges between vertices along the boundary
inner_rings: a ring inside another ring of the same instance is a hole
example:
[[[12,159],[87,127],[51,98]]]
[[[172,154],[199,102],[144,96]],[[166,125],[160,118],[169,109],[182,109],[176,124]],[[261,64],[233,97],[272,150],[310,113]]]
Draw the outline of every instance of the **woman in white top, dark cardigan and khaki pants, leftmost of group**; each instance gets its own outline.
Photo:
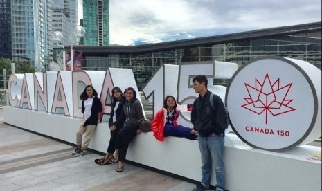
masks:
[[[84,118],[80,121],[80,127],[76,134],[77,148],[72,153],[75,156],[84,155],[84,150],[89,145],[96,125],[100,123],[100,113],[102,112],[102,104],[97,97],[97,91],[91,85],[85,87],[80,95],[80,100],[82,100],[82,113],[84,113]],[[84,143],[82,143],[83,134],[85,134]]]

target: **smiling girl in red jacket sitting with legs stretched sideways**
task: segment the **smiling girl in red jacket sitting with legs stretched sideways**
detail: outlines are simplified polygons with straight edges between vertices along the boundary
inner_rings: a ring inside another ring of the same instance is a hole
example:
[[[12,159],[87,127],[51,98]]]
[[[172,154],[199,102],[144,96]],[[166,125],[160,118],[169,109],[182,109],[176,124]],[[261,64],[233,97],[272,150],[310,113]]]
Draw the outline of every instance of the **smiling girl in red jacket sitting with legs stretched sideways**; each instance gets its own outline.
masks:
[[[191,140],[197,139],[197,131],[182,125],[178,125],[177,118],[180,110],[177,109],[175,97],[167,96],[163,102],[163,108],[156,112],[151,129],[157,140],[163,141],[166,136],[184,137]]]

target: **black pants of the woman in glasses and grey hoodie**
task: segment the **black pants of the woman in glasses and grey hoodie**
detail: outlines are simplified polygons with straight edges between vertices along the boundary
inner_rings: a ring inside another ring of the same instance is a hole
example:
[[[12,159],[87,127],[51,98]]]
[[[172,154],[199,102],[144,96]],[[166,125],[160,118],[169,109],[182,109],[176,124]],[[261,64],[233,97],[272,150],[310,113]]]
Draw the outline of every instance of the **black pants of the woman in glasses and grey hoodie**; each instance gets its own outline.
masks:
[[[129,142],[136,136],[136,130],[138,130],[138,125],[127,124],[118,132],[115,143],[115,149],[119,150],[118,161],[125,161]]]

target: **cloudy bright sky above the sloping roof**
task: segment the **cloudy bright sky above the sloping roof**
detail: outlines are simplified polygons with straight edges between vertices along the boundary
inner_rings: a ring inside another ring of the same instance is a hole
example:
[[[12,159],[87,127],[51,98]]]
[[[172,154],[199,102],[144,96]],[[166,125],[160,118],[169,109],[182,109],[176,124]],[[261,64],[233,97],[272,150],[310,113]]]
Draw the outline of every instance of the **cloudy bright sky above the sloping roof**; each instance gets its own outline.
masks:
[[[113,45],[168,42],[316,21],[321,21],[321,0],[109,0]]]

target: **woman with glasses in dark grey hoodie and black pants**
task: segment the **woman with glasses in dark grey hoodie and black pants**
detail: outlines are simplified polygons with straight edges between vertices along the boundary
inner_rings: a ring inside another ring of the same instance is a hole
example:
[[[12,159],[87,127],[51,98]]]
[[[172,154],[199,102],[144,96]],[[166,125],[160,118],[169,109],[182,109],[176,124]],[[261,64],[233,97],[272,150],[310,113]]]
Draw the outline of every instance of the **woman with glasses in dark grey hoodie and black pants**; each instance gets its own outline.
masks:
[[[141,132],[138,130],[138,121],[145,118],[141,102],[136,98],[136,91],[132,87],[124,91],[123,118],[125,118],[124,126],[120,129],[115,144],[114,160],[118,161],[116,172],[123,172],[129,143],[136,133]]]

